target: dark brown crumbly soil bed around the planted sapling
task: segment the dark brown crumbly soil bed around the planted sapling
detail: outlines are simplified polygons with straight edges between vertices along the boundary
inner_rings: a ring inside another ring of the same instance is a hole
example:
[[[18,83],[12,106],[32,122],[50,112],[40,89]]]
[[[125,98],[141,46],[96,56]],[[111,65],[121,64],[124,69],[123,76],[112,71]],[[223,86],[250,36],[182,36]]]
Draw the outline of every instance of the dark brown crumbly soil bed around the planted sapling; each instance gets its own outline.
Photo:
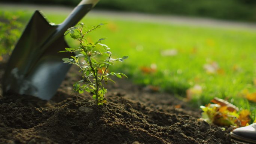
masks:
[[[0,80],[4,65],[0,64]],[[75,68],[50,100],[0,96],[0,144],[232,144],[231,128],[198,120],[201,111],[170,94],[117,80],[107,104],[77,95]]]

